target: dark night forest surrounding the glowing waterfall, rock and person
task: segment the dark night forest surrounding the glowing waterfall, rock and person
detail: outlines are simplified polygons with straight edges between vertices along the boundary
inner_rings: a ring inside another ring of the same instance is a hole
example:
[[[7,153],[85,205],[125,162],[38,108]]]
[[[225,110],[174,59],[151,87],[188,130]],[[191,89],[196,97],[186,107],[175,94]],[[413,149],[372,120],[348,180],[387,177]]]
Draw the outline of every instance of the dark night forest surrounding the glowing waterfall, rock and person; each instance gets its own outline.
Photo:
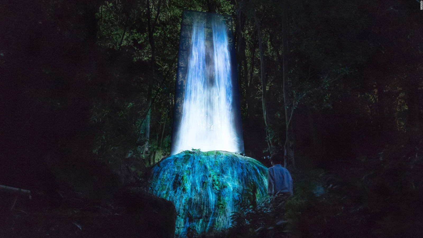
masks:
[[[174,237],[148,189],[184,9],[232,19],[245,156],[280,155],[294,195],[178,237],[422,237],[420,4],[0,1],[0,185],[31,194],[0,190],[0,237]]]

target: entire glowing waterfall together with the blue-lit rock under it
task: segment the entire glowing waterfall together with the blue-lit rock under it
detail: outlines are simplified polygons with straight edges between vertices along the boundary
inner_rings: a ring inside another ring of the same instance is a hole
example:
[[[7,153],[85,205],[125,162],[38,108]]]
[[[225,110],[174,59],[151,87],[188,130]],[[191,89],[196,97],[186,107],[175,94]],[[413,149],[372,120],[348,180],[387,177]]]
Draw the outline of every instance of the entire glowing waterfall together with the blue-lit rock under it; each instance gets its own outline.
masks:
[[[230,18],[184,11],[171,156],[154,167],[151,193],[176,207],[176,235],[231,226],[242,194],[267,196],[267,168],[244,152]]]

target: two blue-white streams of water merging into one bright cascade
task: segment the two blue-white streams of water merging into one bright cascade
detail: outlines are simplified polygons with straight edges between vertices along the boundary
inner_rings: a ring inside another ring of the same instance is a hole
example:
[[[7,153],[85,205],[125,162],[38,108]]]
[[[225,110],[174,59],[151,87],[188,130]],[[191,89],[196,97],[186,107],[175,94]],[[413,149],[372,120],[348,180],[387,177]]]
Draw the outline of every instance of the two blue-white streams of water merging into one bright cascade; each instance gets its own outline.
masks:
[[[211,49],[206,49],[205,30],[204,21],[194,19],[181,121],[172,155],[191,149],[241,152],[232,111],[231,58],[224,19],[211,18],[212,82],[206,70],[206,50]]]

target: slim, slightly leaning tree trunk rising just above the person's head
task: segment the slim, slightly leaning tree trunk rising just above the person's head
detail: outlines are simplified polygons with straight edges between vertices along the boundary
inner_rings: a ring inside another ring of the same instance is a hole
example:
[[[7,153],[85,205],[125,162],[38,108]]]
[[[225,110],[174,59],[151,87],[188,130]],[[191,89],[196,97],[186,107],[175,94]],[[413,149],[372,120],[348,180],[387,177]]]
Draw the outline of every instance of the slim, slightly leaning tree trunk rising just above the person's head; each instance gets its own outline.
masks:
[[[266,126],[266,142],[267,146],[269,147],[269,153],[273,152],[273,144],[272,140],[269,137],[269,119],[266,114],[266,72],[264,69],[264,50],[263,50],[263,42],[261,39],[261,32],[260,32],[260,23],[257,20],[257,16],[255,14],[255,11],[253,11],[253,17],[255,20],[255,25],[257,26],[257,36],[258,36],[258,48],[260,51],[260,73],[261,73],[261,106],[263,108],[263,118],[264,118],[264,125]]]

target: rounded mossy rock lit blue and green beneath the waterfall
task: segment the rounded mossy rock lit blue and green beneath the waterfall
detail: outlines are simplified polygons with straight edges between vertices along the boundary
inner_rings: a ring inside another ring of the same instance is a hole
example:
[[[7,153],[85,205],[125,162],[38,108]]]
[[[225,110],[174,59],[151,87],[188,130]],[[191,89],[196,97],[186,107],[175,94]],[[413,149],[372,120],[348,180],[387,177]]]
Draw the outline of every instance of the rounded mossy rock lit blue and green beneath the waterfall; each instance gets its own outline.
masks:
[[[267,196],[267,168],[253,158],[225,151],[184,151],[154,167],[151,192],[175,204],[176,235],[189,227],[216,232],[231,225],[245,191]]]

